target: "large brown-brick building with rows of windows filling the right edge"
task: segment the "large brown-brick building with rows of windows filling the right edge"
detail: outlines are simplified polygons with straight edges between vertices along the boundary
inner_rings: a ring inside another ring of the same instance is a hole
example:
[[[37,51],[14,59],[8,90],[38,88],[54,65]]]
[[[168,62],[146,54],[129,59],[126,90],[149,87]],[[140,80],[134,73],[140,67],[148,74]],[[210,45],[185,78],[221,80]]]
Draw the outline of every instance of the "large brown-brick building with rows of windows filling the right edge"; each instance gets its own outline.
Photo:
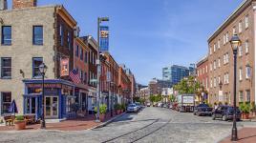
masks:
[[[255,101],[255,4],[254,0],[244,1],[208,39],[209,100],[212,104],[233,102],[234,60],[229,43],[233,34],[238,34],[242,40],[237,58],[237,102]],[[219,86],[221,82],[223,86]]]

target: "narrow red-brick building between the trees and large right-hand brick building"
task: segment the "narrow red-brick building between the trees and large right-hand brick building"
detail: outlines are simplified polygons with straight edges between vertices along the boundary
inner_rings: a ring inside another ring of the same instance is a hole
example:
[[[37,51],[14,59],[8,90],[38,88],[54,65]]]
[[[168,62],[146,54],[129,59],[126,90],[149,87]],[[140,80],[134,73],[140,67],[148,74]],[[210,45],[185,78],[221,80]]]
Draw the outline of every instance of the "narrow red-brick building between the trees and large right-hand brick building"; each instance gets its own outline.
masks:
[[[209,92],[209,77],[208,77],[208,57],[205,56],[203,59],[201,59],[197,64],[196,74],[197,74],[197,81],[199,81],[204,88],[204,91]],[[205,93],[207,93],[205,92]],[[201,96],[202,98],[203,96]],[[206,98],[206,96],[204,96]],[[199,101],[202,101],[202,99],[199,99]]]

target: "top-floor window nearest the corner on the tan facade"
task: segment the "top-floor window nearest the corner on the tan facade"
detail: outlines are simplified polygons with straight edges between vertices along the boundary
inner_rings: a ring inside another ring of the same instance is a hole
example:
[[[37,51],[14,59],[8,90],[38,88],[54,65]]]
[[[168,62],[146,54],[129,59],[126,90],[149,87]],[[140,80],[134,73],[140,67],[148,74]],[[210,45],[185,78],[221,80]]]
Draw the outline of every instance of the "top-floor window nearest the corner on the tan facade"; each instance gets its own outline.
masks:
[[[33,26],[32,28],[32,44],[43,45],[43,26]]]

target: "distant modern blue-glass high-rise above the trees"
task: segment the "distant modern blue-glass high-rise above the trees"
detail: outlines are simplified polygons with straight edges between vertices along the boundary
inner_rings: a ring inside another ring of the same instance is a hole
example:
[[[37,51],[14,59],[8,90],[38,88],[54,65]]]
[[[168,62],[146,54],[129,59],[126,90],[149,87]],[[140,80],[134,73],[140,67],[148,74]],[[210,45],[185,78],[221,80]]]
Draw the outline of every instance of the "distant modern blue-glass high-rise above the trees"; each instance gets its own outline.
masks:
[[[181,81],[182,78],[189,75],[190,71],[194,69],[188,69],[183,66],[173,65],[171,67],[165,67],[162,69],[162,79],[171,81],[172,85],[175,85]]]

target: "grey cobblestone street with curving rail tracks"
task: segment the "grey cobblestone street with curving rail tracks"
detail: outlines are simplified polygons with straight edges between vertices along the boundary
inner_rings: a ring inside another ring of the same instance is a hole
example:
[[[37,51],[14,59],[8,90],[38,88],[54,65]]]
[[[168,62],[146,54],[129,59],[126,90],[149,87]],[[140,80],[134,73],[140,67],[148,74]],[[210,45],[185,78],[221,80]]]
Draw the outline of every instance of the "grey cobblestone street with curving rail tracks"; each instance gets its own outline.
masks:
[[[239,129],[243,122],[238,123]],[[126,113],[106,127],[79,131],[1,132],[0,142],[218,142],[228,136],[231,122],[212,120],[192,113],[161,108],[145,108],[139,113]]]

